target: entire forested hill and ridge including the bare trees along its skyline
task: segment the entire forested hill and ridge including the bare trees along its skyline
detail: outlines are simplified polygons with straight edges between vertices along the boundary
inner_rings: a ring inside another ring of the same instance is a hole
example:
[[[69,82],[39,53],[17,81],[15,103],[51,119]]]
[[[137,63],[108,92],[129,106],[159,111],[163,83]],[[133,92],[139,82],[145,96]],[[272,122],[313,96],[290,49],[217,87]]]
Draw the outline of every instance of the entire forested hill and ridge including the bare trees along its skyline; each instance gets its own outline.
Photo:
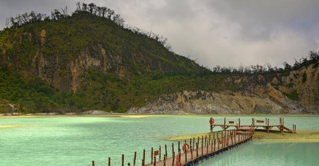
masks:
[[[284,69],[252,65],[209,70],[172,52],[163,36],[125,25],[111,9],[76,5],[71,15],[65,8],[51,16],[31,12],[7,19],[11,26],[0,31],[0,113],[126,112],[165,94],[243,91],[310,65],[311,73],[317,73],[318,52],[293,66],[285,63]],[[306,80],[316,96],[317,74],[311,73]],[[309,94],[301,83],[287,84],[282,93],[292,101],[300,99],[296,93]],[[316,110],[318,99],[312,96],[304,103]]]

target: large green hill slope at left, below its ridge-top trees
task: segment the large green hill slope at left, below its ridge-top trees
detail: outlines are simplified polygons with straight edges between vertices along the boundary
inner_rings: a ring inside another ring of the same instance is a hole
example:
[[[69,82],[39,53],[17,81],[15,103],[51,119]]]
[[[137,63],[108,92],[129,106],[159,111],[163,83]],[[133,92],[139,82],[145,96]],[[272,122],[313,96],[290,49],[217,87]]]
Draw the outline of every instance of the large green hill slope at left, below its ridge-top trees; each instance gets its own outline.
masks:
[[[157,95],[204,88],[195,75],[210,72],[85,11],[4,29],[0,50],[0,99],[25,113],[124,112]]]

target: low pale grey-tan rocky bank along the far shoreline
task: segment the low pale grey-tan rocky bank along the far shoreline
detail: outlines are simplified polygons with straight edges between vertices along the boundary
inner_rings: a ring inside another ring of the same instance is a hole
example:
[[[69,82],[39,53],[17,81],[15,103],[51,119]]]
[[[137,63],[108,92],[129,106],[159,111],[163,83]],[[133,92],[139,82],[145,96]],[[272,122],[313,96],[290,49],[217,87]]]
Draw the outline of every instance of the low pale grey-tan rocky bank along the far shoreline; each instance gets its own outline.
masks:
[[[282,97],[279,102],[271,96],[265,98],[249,92],[183,91],[158,97],[145,106],[130,108],[127,113],[280,114],[303,112],[303,108],[297,102],[285,96]]]

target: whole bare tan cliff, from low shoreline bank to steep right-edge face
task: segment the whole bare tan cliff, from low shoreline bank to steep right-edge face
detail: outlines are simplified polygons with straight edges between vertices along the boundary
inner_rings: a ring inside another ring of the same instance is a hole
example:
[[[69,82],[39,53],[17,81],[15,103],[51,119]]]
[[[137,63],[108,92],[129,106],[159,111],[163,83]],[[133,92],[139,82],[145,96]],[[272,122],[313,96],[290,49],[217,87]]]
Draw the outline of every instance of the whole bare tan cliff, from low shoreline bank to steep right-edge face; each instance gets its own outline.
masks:
[[[237,91],[183,91],[159,96],[145,106],[130,108],[137,114],[319,114],[318,65],[303,67],[267,80],[263,75],[231,76],[227,82],[241,82]],[[305,76],[302,76],[306,74]],[[293,100],[283,93],[296,91]]]

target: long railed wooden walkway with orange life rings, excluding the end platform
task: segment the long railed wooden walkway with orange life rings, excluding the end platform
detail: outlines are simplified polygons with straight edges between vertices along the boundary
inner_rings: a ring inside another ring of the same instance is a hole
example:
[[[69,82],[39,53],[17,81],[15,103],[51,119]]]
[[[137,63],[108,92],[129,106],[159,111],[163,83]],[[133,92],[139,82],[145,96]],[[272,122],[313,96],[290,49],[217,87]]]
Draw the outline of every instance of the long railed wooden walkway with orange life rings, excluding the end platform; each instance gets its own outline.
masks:
[[[196,162],[212,157],[234,148],[252,138],[252,131],[238,134],[236,130],[225,130],[190,138],[177,144],[151,147],[148,150],[122,154],[118,158],[107,158],[105,161],[92,161],[90,165],[193,165]]]

